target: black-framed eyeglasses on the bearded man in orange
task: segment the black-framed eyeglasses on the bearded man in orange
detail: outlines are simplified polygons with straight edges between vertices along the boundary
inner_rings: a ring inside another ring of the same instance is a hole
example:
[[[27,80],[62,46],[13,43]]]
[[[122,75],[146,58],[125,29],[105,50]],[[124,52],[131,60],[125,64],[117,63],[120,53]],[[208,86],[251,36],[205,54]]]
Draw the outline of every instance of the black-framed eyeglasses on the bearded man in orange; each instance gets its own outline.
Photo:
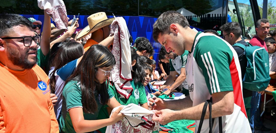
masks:
[[[24,36],[24,37],[2,37],[1,39],[23,39],[21,40],[25,47],[31,46],[33,40],[36,43],[36,45],[40,45],[41,36]],[[20,42],[21,42],[20,41]]]

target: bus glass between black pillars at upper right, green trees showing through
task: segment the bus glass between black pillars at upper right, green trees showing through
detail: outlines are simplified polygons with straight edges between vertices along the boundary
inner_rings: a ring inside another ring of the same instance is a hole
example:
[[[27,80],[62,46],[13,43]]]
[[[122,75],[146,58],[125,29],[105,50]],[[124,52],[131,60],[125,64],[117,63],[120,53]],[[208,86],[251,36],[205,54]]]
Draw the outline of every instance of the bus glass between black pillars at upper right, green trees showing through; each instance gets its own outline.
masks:
[[[235,5],[237,1],[237,5]],[[238,10],[236,9],[238,7]],[[228,14],[231,16],[233,22],[238,22],[241,25],[242,33],[247,38],[252,38],[256,34],[253,12],[249,0],[229,0],[228,1]],[[237,12],[240,12],[240,22],[238,20]]]

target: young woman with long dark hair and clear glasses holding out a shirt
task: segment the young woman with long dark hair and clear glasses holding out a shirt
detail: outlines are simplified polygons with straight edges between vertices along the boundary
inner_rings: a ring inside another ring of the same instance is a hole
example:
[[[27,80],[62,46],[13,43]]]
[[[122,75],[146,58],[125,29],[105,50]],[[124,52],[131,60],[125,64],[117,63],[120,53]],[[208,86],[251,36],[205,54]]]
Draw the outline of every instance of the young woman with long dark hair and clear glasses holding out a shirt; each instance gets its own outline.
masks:
[[[102,45],[91,46],[83,55],[63,88],[62,116],[59,119],[62,132],[93,132],[124,117],[120,113],[121,107],[110,118],[96,120],[102,105],[111,108],[121,105],[105,82],[114,65],[114,56]]]

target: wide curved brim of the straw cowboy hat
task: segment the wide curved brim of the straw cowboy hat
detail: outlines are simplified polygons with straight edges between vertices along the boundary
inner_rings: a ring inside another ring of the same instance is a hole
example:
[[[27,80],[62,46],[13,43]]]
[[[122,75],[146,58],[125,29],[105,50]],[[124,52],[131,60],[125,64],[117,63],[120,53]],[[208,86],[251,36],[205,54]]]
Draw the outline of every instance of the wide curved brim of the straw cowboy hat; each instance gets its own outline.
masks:
[[[90,29],[89,25],[86,26],[83,30],[81,30],[81,32],[78,34],[76,39],[80,39],[83,38],[85,36],[87,36],[88,34],[104,27],[104,26],[108,26],[111,25],[113,20],[115,20],[115,18],[108,18],[106,20],[100,21],[99,23],[97,23],[93,28]]]

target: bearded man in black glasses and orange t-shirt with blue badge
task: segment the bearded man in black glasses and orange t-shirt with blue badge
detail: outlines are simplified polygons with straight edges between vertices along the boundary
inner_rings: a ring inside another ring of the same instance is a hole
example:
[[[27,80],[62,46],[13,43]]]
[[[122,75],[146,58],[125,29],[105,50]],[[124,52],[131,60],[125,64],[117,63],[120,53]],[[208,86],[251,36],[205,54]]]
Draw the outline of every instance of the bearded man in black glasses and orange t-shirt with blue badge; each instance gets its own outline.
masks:
[[[59,132],[49,78],[36,65],[41,37],[32,26],[20,15],[0,15],[0,133]]]

